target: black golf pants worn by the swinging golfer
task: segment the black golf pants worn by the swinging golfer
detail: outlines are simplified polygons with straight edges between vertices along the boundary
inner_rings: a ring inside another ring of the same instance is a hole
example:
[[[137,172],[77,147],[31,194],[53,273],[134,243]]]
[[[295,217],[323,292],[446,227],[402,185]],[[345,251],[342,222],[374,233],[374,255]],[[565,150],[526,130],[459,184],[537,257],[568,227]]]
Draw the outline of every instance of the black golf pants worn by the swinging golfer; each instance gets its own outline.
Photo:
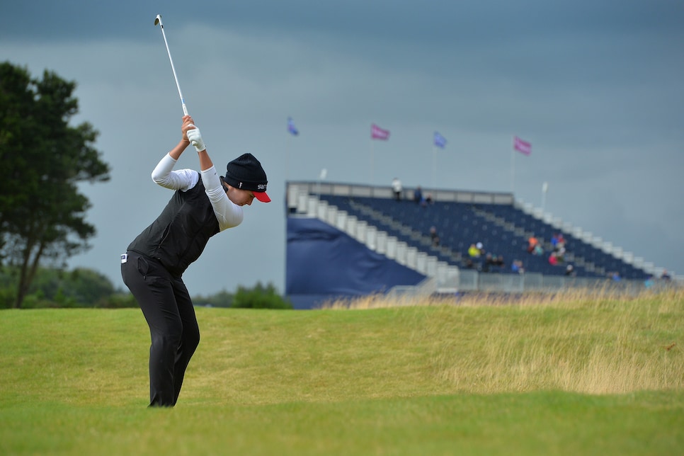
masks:
[[[127,256],[121,276],[142,309],[152,339],[149,406],[174,406],[200,343],[193,302],[183,280],[173,277],[159,261],[132,251]]]

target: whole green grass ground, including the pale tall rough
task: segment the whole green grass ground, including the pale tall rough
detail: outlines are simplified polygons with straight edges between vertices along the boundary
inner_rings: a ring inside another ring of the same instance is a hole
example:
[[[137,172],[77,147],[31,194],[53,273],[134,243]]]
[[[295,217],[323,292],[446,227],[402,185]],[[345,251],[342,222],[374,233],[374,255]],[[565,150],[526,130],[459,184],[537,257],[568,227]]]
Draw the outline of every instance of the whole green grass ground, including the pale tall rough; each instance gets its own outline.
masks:
[[[198,308],[174,409],[139,309],[1,311],[0,455],[684,453],[682,293],[401,304]]]

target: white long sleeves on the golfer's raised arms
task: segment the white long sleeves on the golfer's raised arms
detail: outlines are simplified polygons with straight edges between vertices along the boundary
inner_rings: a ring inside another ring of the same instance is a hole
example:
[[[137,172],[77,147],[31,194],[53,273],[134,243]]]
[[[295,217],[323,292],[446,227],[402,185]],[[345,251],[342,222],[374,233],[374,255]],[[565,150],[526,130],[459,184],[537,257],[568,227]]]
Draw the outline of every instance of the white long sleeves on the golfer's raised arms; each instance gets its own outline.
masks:
[[[152,170],[152,181],[164,188],[187,191],[198,183],[201,176],[205,193],[209,197],[216,220],[219,222],[220,231],[241,224],[242,207],[229,200],[214,166],[198,173],[194,169],[174,170],[173,166],[176,166],[176,162],[177,160],[171,155],[164,155]]]

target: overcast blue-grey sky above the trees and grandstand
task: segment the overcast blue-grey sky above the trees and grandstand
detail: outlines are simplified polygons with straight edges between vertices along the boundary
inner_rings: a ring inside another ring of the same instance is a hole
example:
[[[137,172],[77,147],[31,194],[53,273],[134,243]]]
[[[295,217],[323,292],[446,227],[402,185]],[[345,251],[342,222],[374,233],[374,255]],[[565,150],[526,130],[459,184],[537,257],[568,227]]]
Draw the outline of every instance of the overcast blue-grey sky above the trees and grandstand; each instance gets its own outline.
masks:
[[[334,182],[513,190],[535,207],[548,182],[547,212],[684,273],[681,0],[2,0],[1,11],[0,60],[76,81],[72,124],[101,133],[112,179],[83,186],[98,234],[69,265],[117,287],[119,254],[171,197],[149,175],[180,137],[156,14],[218,171],[253,153],[273,199],[210,240],[185,274],[193,295],[258,280],[283,292],[285,181],[321,169]],[[372,122],[389,141],[371,143]],[[435,131],[448,144],[433,173]],[[511,153],[513,135],[530,156]],[[198,169],[192,147],[181,167]]]

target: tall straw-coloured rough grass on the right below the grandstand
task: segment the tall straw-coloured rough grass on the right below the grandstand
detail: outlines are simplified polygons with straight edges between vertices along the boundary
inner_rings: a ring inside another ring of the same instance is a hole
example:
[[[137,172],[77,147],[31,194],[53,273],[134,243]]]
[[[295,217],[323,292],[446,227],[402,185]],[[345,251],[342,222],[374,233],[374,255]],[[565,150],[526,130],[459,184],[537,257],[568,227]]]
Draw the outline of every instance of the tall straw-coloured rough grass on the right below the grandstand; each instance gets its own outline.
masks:
[[[437,307],[411,338],[434,341],[439,380],[471,393],[622,394],[684,387],[684,291],[625,295],[366,297],[327,309]],[[457,312],[453,307],[459,307]]]

